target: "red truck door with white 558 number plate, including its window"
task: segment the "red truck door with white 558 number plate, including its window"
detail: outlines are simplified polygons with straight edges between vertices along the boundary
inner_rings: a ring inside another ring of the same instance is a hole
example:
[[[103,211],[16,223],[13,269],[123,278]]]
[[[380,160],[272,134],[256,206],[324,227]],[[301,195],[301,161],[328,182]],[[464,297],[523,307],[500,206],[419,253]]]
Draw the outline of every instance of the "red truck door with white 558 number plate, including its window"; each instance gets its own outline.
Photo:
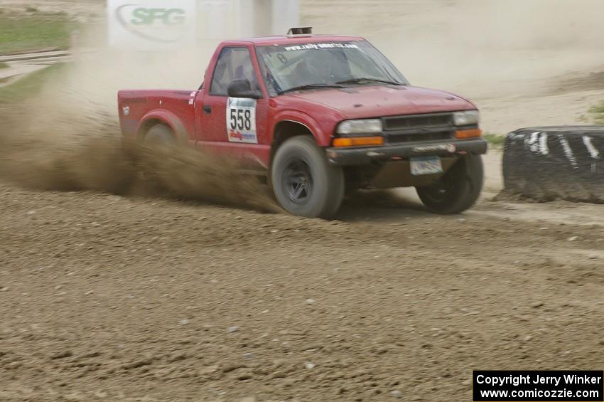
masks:
[[[230,98],[227,93],[230,83],[242,78],[249,80],[253,89],[262,90],[258,77],[257,63],[247,46],[222,48],[212,77],[205,82],[202,105],[196,110],[198,147],[257,162],[266,159],[264,154],[270,149],[266,90],[259,100]]]

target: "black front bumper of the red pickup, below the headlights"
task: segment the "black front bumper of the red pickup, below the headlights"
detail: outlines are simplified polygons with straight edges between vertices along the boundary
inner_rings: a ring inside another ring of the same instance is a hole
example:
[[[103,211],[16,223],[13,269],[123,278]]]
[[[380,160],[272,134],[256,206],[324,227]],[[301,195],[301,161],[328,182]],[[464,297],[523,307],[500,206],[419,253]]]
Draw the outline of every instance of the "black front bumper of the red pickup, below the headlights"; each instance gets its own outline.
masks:
[[[329,163],[336,166],[356,166],[372,162],[399,161],[412,157],[451,157],[456,154],[480,155],[487,153],[487,141],[477,139],[453,139],[451,141],[415,142],[413,144],[383,145],[380,147],[326,149]]]

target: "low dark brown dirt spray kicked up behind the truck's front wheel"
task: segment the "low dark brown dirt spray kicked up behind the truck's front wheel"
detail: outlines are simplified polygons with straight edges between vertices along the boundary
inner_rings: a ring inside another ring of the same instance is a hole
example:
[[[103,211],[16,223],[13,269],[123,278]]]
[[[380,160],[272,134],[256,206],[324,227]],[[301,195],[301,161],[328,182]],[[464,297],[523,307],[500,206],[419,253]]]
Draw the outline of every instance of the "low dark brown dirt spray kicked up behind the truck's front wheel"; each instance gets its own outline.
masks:
[[[107,120],[109,122],[109,120]],[[0,176],[32,189],[103,191],[159,196],[277,212],[261,182],[234,162],[195,149],[123,142],[119,127],[99,120],[69,131],[20,131],[4,136]],[[81,130],[81,131],[72,131]],[[40,138],[38,135],[43,135]]]

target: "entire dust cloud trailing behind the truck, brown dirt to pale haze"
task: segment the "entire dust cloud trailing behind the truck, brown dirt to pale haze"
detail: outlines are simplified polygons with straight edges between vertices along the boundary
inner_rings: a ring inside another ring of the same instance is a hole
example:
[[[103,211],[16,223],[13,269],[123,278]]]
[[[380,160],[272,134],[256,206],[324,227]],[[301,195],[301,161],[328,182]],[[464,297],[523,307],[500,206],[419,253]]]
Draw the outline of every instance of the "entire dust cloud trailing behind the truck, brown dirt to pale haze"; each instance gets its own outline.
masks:
[[[40,94],[3,110],[0,175],[15,184],[59,191],[167,196],[258,211],[278,211],[258,179],[234,162],[195,149],[151,149],[122,141],[117,91],[196,89],[214,46],[173,53],[104,48],[102,31],[83,34],[72,63]]]

